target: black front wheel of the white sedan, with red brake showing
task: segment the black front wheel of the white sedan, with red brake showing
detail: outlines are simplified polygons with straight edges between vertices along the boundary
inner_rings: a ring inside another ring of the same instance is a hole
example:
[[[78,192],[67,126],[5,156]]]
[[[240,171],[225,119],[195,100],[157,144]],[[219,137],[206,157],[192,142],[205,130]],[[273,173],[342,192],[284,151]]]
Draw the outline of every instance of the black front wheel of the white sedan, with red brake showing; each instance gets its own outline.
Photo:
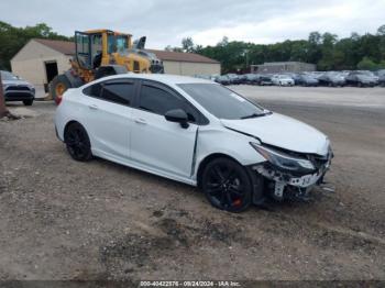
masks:
[[[230,158],[210,162],[204,170],[201,187],[210,203],[221,210],[241,212],[252,201],[252,181],[248,171]]]

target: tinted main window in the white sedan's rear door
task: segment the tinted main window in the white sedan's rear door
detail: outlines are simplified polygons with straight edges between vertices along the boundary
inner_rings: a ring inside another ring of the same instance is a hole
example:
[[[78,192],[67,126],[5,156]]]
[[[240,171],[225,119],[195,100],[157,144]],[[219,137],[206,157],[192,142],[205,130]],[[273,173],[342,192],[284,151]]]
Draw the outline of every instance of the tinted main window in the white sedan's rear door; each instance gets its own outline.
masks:
[[[105,84],[101,99],[119,104],[130,106],[134,97],[134,85],[129,82]]]

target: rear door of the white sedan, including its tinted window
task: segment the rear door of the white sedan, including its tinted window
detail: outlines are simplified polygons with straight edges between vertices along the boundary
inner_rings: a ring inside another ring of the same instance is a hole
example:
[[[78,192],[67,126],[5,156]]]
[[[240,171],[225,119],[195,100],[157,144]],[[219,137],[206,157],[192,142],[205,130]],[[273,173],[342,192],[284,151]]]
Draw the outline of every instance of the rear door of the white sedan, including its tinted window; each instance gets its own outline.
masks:
[[[113,79],[96,84],[84,90],[87,95],[87,123],[92,152],[116,159],[129,157],[131,102],[136,82]]]

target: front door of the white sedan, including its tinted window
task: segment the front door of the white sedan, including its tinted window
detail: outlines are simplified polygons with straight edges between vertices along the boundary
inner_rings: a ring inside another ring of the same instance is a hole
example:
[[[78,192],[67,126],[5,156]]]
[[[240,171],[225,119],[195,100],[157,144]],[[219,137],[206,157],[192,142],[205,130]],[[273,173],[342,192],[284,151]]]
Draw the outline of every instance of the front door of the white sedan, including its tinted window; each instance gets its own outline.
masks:
[[[187,129],[164,117],[178,108],[189,115]],[[143,80],[132,118],[132,160],[160,173],[190,177],[198,125],[197,115],[186,99],[165,85]]]

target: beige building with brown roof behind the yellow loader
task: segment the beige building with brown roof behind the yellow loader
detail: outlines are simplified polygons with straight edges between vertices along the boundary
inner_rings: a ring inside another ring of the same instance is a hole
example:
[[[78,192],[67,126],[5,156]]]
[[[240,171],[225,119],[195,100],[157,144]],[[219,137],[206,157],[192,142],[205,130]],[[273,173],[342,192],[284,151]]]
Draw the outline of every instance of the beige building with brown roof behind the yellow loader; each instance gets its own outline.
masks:
[[[156,49],[150,52],[163,60],[166,74],[220,74],[219,62],[198,54]],[[73,42],[33,38],[11,59],[12,73],[35,86],[43,86],[57,74],[69,69],[69,59],[74,54]]]

